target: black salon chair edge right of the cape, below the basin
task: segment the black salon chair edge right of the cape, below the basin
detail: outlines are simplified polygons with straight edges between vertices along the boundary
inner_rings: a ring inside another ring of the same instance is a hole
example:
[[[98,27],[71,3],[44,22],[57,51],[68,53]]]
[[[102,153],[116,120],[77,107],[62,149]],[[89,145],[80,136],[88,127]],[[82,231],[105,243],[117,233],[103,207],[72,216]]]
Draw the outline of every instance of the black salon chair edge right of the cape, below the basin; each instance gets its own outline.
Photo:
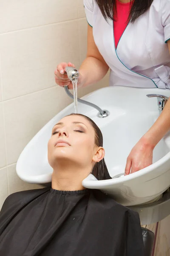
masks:
[[[142,227],[142,237],[144,241],[144,256],[152,256],[155,235],[152,231]]]

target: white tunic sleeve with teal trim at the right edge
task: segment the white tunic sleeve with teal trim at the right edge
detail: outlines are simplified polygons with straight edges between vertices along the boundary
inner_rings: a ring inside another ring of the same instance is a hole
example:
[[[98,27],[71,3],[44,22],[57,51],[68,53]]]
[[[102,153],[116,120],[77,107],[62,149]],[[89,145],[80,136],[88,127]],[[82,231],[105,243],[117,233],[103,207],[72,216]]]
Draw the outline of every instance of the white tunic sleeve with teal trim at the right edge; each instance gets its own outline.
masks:
[[[170,0],[162,0],[162,23],[164,26],[164,41],[170,40]]]

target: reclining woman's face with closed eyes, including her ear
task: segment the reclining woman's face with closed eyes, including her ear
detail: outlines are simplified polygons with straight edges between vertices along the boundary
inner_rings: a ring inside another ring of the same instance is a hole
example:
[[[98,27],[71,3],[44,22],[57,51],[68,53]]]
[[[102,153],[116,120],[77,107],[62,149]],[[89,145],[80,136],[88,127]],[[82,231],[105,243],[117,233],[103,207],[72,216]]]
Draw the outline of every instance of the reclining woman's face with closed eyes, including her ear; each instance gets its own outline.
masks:
[[[94,128],[85,117],[65,116],[52,129],[48,142],[48,162],[52,168],[59,160],[69,160],[82,168],[93,165],[105,154],[104,149],[97,147],[94,141]],[[98,150],[100,154],[94,156]]]

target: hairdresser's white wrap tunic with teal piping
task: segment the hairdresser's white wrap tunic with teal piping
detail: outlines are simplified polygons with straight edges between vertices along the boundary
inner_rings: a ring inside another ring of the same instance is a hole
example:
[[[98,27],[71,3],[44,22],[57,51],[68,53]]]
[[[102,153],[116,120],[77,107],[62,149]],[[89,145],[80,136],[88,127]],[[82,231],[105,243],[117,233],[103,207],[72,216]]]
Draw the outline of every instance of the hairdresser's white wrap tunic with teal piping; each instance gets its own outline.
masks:
[[[170,0],[153,0],[127,25],[117,49],[113,21],[106,22],[95,0],[84,0],[84,6],[96,46],[111,68],[110,85],[170,89]]]

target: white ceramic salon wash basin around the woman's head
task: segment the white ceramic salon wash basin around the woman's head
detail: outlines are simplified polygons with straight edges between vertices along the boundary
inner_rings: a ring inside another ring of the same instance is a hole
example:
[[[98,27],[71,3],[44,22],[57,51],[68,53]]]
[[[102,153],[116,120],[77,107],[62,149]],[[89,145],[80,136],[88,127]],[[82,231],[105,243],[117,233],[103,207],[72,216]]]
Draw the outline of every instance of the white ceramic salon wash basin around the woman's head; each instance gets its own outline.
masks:
[[[133,146],[159,116],[157,99],[150,93],[170,96],[170,90],[133,87],[105,87],[82,97],[108,110],[106,118],[97,117],[98,111],[78,105],[79,113],[96,122],[104,137],[105,162],[112,180],[96,180],[89,175],[83,186],[101,189],[116,201],[132,206],[152,201],[170,186],[170,135],[167,134],[153,152],[153,164],[139,172],[124,175],[128,154]],[[47,143],[52,127],[63,116],[73,113],[71,104],[51,119],[28,143],[17,161],[18,176],[28,183],[51,182],[52,169],[47,160]],[[109,135],[109,136],[108,136]],[[119,177],[121,176],[121,177]]]

